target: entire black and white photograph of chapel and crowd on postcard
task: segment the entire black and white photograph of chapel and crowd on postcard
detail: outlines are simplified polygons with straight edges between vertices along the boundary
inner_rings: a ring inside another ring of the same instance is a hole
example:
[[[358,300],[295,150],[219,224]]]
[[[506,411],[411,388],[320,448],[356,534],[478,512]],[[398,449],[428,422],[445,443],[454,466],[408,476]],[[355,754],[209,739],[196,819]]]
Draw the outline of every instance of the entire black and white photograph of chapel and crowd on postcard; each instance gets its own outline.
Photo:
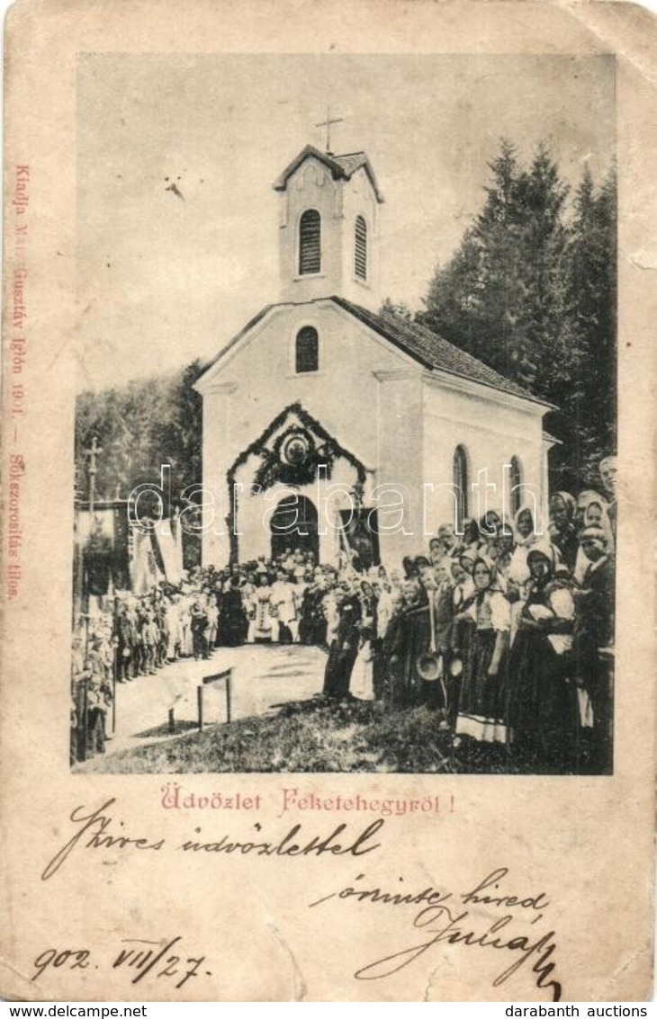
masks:
[[[613,774],[615,85],[80,55],[73,772]]]

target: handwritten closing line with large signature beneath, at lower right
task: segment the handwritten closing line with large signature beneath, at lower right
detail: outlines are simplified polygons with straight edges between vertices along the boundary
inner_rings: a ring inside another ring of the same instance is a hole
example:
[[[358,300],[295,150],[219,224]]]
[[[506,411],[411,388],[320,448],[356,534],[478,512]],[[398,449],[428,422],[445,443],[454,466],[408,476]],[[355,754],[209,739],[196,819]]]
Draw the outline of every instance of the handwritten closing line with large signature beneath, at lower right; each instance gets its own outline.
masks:
[[[533,925],[543,919],[550,905],[549,900],[544,892],[525,896],[500,894],[500,886],[508,873],[507,867],[498,867],[472,889],[461,893],[433,887],[417,893],[385,892],[381,888],[365,888],[357,883],[365,878],[364,874],[358,874],[355,887],[347,886],[339,892],[332,892],[309,906],[314,908],[331,899],[338,899],[368,905],[421,907],[414,913],[411,926],[429,936],[361,966],[354,973],[358,980],[380,980],[391,976],[441,943],[460,944],[467,948],[497,949],[517,954],[514,961],[495,977],[494,987],[503,984],[521,966],[534,960],[537,987],[551,990],[552,1000],[558,1002],[561,1000],[561,983],[552,977],[556,969],[556,963],[552,961],[556,950],[555,932],[548,930],[543,933],[540,928],[534,936],[526,932],[527,923]],[[476,915],[472,915],[471,907],[475,908]],[[486,919],[482,918],[482,912],[486,913]],[[520,924],[522,932],[519,931]]]

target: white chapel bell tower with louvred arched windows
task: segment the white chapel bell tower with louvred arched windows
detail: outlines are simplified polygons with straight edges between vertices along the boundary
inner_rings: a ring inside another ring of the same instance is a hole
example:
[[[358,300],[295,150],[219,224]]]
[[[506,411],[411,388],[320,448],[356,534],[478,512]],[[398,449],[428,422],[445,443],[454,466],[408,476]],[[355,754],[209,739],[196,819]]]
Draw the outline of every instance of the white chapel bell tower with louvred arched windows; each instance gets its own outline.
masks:
[[[384,198],[365,153],[335,156],[308,145],[273,187],[281,196],[280,300],[336,294],[377,311]]]

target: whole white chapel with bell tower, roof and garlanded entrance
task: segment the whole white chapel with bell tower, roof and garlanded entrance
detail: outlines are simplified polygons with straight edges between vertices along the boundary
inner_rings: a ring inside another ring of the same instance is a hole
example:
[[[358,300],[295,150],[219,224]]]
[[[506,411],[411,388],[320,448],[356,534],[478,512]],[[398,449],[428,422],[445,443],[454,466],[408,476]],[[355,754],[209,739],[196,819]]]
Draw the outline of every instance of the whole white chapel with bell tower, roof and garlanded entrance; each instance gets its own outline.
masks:
[[[542,512],[549,406],[378,312],[384,198],[365,153],[307,146],[273,189],[277,300],[195,383],[204,565],[288,547],[331,562],[351,547],[396,567],[441,523],[483,508],[510,520],[533,499]]]

